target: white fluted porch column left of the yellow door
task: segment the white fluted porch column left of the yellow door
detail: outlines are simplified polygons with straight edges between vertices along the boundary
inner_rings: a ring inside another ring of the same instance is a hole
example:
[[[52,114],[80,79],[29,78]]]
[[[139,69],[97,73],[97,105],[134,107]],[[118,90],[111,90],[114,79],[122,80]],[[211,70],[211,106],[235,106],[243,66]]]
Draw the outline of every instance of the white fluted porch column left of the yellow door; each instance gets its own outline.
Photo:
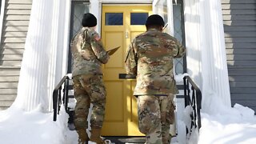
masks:
[[[66,46],[63,46],[67,38],[64,32],[66,24],[63,19],[70,12],[66,6],[68,2],[33,0],[18,95],[13,106],[34,110],[41,105],[42,111],[51,110],[54,86],[66,73],[66,68],[62,68],[60,61],[65,61],[67,57],[62,54],[66,54]]]

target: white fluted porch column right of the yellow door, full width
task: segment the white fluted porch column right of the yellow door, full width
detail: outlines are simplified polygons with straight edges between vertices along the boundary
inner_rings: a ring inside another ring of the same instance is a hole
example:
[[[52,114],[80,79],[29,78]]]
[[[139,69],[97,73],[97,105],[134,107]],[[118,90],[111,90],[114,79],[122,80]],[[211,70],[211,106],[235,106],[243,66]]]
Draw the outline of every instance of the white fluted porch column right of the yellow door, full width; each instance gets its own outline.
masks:
[[[221,2],[185,0],[184,7],[187,68],[202,90],[202,108],[213,100],[231,106]]]

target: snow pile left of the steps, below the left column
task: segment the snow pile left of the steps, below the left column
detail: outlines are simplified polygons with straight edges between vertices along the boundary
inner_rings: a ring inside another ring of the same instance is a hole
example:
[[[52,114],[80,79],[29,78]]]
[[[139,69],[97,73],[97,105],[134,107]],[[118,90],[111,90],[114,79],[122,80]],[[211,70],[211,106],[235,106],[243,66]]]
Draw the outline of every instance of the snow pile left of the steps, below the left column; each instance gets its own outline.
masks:
[[[0,139],[3,144],[63,144],[68,116],[62,110],[58,121],[53,113],[42,113],[42,107],[25,112],[15,107],[0,111]]]

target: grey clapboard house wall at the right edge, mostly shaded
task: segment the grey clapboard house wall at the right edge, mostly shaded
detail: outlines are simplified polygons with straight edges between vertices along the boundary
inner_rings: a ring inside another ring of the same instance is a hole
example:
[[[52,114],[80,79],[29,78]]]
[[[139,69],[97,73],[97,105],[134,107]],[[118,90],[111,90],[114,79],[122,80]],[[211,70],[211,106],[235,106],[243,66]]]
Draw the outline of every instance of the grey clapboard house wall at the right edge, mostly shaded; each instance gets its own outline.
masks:
[[[256,1],[222,0],[230,94],[256,110]]]

